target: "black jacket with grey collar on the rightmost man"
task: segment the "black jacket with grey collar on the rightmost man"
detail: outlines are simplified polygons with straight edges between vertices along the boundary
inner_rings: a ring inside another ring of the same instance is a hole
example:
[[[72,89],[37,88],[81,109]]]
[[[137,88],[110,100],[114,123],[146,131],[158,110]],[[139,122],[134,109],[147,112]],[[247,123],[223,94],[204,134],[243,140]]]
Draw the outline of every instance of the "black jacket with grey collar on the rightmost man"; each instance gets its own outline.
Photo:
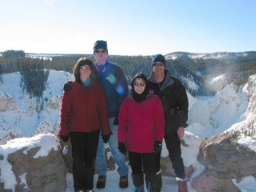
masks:
[[[175,134],[179,127],[187,127],[188,124],[188,95],[179,79],[171,76],[165,70],[163,83],[160,85],[154,79],[154,72],[148,77],[150,90],[162,101],[164,108],[164,135]]]

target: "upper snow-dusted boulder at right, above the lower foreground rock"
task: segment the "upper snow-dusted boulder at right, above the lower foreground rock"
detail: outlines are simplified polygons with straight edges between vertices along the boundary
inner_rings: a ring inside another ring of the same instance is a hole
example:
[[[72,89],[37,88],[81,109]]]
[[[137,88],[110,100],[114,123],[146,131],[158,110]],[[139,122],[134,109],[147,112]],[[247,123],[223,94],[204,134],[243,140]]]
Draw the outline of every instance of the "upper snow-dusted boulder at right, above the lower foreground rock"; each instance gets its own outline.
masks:
[[[236,134],[203,139],[198,161],[218,178],[240,180],[248,175],[256,177],[256,153],[237,140]]]

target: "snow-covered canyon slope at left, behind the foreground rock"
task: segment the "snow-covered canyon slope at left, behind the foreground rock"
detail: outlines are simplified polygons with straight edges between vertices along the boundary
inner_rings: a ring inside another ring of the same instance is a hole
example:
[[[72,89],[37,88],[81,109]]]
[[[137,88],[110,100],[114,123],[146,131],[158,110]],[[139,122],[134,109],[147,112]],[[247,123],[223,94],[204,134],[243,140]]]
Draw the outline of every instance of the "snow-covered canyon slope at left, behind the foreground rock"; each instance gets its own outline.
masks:
[[[72,79],[67,72],[49,71],[47,88],[39,103],[22,91],[20,73],[3,74],[0,84],[0,141],[29,137],[35,133],[58,131],[63,83]],[[42,104],[43,110],[36,111]]]

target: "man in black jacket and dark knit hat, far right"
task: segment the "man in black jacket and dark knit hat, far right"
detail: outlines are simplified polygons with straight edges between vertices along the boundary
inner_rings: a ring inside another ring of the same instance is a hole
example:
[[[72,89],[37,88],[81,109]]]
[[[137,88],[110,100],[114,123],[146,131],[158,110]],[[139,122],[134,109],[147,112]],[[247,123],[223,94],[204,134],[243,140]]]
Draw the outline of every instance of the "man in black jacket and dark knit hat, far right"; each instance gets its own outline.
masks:
[[[166,60],[162,54],[152,57],[153,71],[148,77],[150,90],[158,95],[164,108],[164,141],[177,175],[179,192],[187,192],[187,178],[181,157],[180,141],[184,137],[184,128],[188,120],[188,95],[179,79],[171,76],[166,70]],[[161,191],[161,152],[156,155],[157,192]]]

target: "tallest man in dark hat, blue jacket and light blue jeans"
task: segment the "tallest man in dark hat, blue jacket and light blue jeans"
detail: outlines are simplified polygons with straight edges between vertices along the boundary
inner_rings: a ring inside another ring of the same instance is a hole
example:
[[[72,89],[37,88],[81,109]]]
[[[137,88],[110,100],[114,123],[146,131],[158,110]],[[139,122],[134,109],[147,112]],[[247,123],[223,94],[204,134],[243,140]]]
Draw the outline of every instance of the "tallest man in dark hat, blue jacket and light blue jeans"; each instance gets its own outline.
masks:
[[[97,40],[93,46],[93,54],[96,59],[95,65],[100,73],[100,81],[108,100],[109,124],[113,135],[108,141],[113,159],[118,168],[117,172],[120,175],[119,187],[128,187],[128,172],[129,168],[125,163],[125,155],[118,150],[118,125],[117,117],[120,106],[128,94],[128,84],[124,76],[122,68],[108,61],[108,45],[104,40]],[[102,140],[99,141],[96,157],[96,170],[99,173],[97,188],[105,188],[107,163],[105,156],[105,147]]]

